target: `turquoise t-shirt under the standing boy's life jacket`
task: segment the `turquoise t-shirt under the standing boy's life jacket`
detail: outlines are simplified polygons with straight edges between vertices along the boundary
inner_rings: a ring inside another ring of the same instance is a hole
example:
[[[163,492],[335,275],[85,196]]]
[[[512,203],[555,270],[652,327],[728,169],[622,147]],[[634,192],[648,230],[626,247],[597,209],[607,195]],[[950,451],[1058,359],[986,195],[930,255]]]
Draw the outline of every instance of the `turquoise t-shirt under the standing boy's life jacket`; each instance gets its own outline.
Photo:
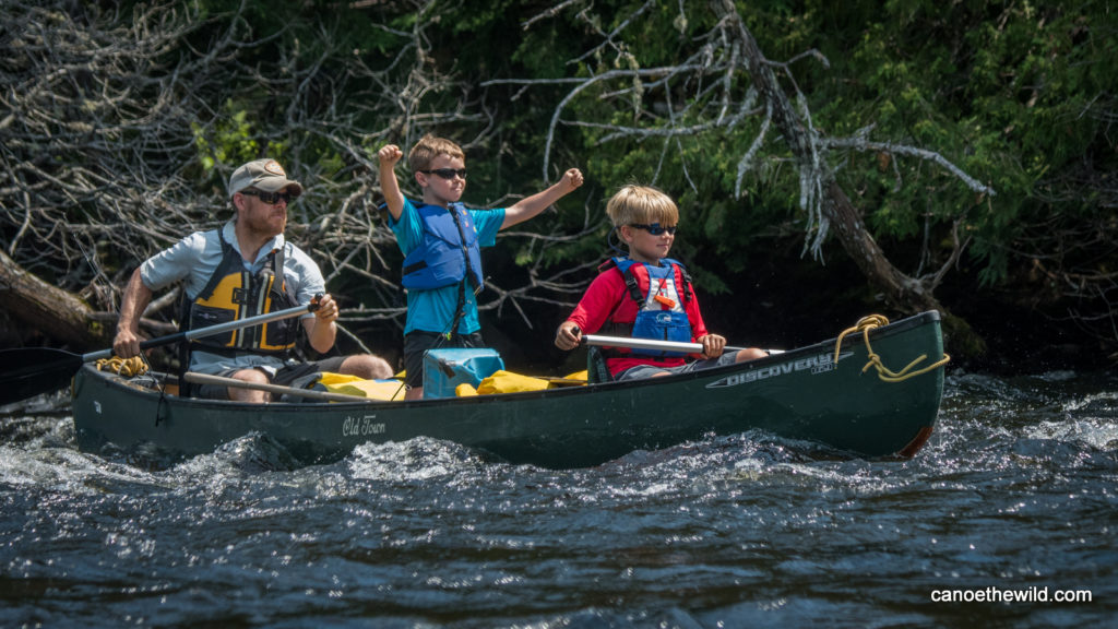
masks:
[[[477,245],[487,247],[496,244],[496,233],[504,223],[504,208],[467,209],[474,228],[477,229]],[[404,210],[399,220],[388,216],[388,226],[396,234],[396,243],[400,245],[404,255],[411,253],[423,243],[423,220],[410,199],[404,199]],[[480,271],[479,271],[480,272]],[[484,278],[485,275],[482,274]],[[426,291],[408,291],[408,316],[404,334],[413,330],[446,334],[451,331],[454,313],[458,306],[458,287],[443,287]],[[458,334],[468,335],[482,328],[477,319],[477,299],[466,284],[466,303],[463,306],[462,320],[458,321]]]

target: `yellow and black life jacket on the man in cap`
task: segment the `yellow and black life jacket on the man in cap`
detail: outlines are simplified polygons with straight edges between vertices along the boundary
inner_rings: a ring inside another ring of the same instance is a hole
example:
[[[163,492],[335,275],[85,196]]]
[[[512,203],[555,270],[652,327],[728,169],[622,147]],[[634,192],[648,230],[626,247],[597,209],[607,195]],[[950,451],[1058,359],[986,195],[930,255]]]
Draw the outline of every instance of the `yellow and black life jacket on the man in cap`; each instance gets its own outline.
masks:
[[[253,273],[245,269],[240,253],[226,242],[220,229],[218,238],[221,241],[221,262],[206,288],[192,302],[187,302],[187,312],[182,321],[189,323],[188,329],[247,319],[299,306],[299,301],[284,281],[282,248],[269,253],[264,266]],[[295,347],[300,325],[299,318],[283,319],[263,326],[196,338],[191,342],[200,349],[218,354],[241,351],[287,354]]]

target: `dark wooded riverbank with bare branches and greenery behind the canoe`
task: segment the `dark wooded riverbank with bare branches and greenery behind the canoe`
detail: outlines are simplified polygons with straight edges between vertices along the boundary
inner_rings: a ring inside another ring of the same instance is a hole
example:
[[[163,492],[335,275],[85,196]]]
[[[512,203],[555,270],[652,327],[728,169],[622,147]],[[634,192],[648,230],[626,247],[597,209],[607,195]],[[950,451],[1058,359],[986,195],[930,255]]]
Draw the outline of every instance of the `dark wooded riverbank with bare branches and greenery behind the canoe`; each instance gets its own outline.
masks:
[[[432,132],[465,149],[474,207],[586,175],[484,253],[484,334],[512,368],[579,368],[553,330],[627,182],[679,201],[673,254],[731,344],[930,304],[956,365],[1112,367],[1116,9],[0,0],[0,345],[105,347],[132,270],[227,219],[229,173],[268,156],[307,188],[287,235],[341,300],[339,348],[396,359],[376,150]],[[76,299],[35,309],[25,273]],[[77,331],[48,325],[63,311]],[[146,331],[176,312],[153,302]]]

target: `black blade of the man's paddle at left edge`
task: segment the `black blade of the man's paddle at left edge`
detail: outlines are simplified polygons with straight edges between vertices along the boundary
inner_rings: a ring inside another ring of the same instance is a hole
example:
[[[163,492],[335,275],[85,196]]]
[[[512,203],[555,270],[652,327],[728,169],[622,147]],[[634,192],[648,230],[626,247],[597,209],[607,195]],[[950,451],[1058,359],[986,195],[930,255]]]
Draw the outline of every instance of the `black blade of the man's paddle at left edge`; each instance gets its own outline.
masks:
[[[0,406],[63,388],[79,368],[82,357],[63,349],[0,350]]]

